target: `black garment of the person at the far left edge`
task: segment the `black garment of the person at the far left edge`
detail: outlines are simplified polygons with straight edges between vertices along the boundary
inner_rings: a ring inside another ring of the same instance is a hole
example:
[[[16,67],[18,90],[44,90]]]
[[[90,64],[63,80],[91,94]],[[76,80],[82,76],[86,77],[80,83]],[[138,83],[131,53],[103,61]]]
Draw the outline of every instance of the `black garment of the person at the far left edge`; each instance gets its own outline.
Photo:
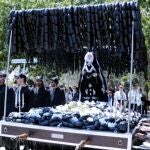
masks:
[[[6,116],[13,111],[12,103],[15,100],[15,94],[12,88],[8,87],[7,90],[7,105],[6,105]],[[0,86],[0,119],[4,115],[4,101],[5,101],[5,85]]]

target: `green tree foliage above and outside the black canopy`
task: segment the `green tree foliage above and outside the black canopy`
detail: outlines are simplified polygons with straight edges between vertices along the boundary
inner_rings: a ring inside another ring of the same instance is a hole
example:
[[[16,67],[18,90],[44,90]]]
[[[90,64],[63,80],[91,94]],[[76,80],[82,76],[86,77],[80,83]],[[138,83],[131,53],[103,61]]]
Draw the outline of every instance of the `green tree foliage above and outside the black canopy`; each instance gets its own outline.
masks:
[[[130,0],[124,0],[130,1]],[[122,0],[1,0],[0,1],[0,69],[6,67],[7,60],[7,21],[12,9],[33,9],[33,8],[52,8],[64,6],[78,6],[86,4],[100,4],[122,2]],[[143,33],[148,52],[148,60],[150,59],[150,1],[139,0]],[[150,70],[150,68],[149,68]],[[150,74],[150,71],[149,71]]]

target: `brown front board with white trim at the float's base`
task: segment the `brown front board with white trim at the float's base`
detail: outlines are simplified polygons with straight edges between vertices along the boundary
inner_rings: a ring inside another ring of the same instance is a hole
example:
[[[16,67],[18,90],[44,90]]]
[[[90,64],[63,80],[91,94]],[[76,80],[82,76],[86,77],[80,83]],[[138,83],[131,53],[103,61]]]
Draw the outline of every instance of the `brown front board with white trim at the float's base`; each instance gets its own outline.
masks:
[[[27,140],[61,145],[76,146],[82,140],[89,141],[84,147],[109,150],[130,150],[132,134],[112,133],[104,131],[87,131],[70,128],[45,127],[21,123],[0,122],[0,134],[4,137],[16,138],[28,133]]]

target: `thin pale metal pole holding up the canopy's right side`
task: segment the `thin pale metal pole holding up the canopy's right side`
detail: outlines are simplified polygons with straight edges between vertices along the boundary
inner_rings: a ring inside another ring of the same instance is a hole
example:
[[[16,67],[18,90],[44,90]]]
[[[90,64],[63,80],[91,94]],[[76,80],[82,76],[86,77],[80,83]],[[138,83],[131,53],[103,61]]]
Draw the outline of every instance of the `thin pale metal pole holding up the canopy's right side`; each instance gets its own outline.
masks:
[[[130,92],[132,88],[132,80],[133,80],[133,50],[134,50],[134,21],[132,21],[132,43],[131,43],[131,63],[130,63]],[[129,95],[129,104],[128,104],[128,130],[130,132],[130,117],[131,117],[131,94]]]

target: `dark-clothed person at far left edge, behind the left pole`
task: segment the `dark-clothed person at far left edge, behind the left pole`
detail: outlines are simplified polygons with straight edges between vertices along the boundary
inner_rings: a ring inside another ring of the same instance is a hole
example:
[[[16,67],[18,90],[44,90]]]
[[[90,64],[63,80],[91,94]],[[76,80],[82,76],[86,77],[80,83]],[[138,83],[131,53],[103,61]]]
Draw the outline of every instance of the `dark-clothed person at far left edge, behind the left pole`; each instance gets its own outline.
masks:
[[[5,101],[5,79],[6,74],[0,71],[0,119],[2,119],[4,115],[4,101]],[[15,99],[14,91],[12,88],[7,88],[7,105],[6,105],[6,116],[9,115],[10,112],[13,111],[11,105]]]

